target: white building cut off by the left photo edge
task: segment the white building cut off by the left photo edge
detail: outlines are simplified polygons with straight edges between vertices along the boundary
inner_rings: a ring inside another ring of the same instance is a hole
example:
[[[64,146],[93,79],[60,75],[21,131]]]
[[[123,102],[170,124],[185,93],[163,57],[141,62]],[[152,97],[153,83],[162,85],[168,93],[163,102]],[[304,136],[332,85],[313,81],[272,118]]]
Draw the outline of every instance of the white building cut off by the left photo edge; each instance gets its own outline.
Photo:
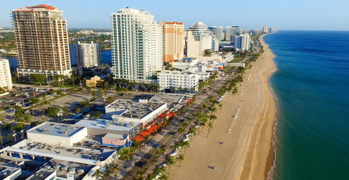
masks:
[[[0,88],[12,89],[12,77],[8,59],[0,59]]]

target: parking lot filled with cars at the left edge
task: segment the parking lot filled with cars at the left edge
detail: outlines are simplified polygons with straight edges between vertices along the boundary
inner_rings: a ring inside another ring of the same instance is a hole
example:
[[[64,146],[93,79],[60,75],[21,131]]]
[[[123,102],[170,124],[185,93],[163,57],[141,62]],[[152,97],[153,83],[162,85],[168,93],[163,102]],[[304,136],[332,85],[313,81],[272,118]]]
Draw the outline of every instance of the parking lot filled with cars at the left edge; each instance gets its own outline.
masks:
[[[21,102],[24,100],[25,102],[28,101],[28,99],[31,99],[35,96],[42,96],[45,93],[50,92],[49,89],[45,88],[27,88],[27,87],[15,87],[13,90],[10,91],[10,94],[4,95],[0,97],[0,108],[15,105],[18,102]]]

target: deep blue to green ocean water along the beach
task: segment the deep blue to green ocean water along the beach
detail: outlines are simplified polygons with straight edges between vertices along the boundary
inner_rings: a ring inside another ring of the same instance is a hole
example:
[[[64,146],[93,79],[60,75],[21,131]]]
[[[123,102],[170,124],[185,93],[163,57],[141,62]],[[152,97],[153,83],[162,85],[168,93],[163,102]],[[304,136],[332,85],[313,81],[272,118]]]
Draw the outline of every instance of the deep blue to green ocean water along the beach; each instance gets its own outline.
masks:
[[[349,31],[277,31],[263,40],[276,66],[268,179],[349,179]]]

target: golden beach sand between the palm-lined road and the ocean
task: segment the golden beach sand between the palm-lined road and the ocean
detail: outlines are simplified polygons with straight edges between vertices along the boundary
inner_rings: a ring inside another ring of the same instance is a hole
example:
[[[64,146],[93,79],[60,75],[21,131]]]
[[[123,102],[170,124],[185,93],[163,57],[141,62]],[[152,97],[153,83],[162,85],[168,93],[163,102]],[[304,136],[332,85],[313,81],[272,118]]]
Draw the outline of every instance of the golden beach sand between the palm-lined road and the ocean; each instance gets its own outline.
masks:
[[[275,67],[274,55],[261,38],[265,52],[246,70],[243,88],[238,88],[235,96],[228,93],[223,97],[223,107],[216,112],[218,118],[209,134],[207,127],[200,128],[200,134],[189,139],[190,147],[179,151],[185,161],[170,167],[171,180],[267,179],[274,159],[275,120],[267,78]]]

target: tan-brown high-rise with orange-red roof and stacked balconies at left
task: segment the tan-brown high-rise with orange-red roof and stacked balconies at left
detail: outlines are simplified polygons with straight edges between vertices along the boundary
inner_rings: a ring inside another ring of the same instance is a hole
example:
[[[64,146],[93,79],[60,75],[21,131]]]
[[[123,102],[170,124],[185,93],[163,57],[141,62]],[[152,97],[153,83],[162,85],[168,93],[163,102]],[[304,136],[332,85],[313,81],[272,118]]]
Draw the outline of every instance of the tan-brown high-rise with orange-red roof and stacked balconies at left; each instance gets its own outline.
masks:
[[[69,75],[69,44],[63,11],[37,5],[12,11],[15,42],[18,50],[17,73],[20,82],[29,82],[30,74]]]

